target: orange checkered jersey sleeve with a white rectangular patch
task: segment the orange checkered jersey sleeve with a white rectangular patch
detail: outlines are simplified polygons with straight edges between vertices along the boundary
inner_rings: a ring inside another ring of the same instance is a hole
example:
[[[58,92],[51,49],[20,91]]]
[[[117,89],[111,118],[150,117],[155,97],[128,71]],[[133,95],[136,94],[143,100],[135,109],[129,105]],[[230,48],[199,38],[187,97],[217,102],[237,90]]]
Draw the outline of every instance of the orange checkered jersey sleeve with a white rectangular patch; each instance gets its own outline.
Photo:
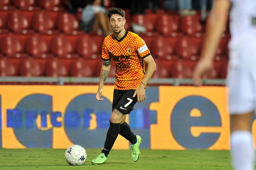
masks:
[[[135,40],[135,50],[142,59],[151,55],[145,41],[141,37],[137,37]]]

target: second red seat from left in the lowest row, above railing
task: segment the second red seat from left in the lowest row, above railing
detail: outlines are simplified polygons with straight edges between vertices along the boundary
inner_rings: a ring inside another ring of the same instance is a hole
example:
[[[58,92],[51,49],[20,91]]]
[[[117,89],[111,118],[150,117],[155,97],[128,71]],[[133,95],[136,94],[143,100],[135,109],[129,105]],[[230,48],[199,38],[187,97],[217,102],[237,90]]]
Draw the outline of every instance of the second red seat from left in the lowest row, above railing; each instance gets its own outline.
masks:
[[[19,75],[24,77],[43,76],[38,62],[32,58],[20,62]]]

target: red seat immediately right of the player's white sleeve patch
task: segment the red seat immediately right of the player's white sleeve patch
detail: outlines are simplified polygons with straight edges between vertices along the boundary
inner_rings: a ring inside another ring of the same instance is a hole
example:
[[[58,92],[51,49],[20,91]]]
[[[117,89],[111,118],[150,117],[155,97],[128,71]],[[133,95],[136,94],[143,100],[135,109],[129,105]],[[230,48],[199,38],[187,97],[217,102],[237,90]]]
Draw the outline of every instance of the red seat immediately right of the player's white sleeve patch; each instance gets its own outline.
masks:
[[[168,39],[160,36],[157,37],[157,39],[154,39],[151,52],[154,57],[159,59],[171,59],[173,49]]]

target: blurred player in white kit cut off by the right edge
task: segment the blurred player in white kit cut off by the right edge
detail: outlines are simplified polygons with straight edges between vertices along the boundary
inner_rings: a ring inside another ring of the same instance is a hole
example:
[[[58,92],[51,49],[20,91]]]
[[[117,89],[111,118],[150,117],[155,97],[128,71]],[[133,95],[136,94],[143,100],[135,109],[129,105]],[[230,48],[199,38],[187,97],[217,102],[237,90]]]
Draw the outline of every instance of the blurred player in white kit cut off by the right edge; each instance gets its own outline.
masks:
[[[230,10],[230,61],[227,75],[230,112],[230,153],[234,170],[254,170],[251,121],[256,109],[256,0],[215,0],[201,59],[193,79],[196,86],[213,66],[213,57]]]

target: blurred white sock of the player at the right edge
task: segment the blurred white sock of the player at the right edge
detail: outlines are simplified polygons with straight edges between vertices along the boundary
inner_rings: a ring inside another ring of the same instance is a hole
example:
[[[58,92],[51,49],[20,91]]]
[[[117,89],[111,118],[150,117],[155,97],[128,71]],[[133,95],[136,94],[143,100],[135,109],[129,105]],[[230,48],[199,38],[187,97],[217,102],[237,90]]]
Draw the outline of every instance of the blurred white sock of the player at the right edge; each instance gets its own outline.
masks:
[[[231,133],[231,160],[234,170],[254,170],[253,137],[250,131]]]

